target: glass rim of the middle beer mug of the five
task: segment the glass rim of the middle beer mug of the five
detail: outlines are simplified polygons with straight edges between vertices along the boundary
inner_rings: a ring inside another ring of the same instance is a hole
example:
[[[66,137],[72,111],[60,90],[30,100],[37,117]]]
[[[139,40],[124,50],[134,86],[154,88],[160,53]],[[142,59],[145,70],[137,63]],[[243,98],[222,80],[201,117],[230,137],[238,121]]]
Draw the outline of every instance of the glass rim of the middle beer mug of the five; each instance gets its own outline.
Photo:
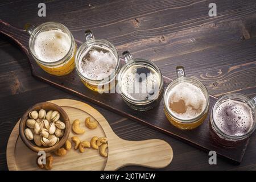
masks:
[[[129,53],[128,51],[125,51],[127,53]],[[130,55],[130,53],[129,53]],[[131,56],[131,55],[130,55]],[[123,73],[125,73],[127,71],[127,69],[129,69],[131,66],[133,65],[137,65],[139,63],[139,65],[143,65],[143,64],[148,64],[150,65],[151,68],[155,69],[155,71],[158,73],[159,77],[160,77],[160,85],[159,85],[159,92],[158,92],[158,95],[152,99],[152,100],[141,100],[141,101],[138,101],[138,100],[134,100],[132,98],[129,98],[127,96],[125,96],[125,94],[123,94],[123,91],[122,91],[122,86],[121,86],[121,79],[122,79],[122,76],[123,76]],[[158,97],[161,95],[161,93],[163,92],[163,76],[162,76],[162,73],[160,71],[160,69],[158,68],[158,66],[153,63],[152,61],[150,60],[146,60],[146,59],[142,59],[142,58],[133,58],[131,56],[131,59],[128,60],[124,65],[123,67],[121,68],[121,70],[119,71],[119,75],[118,75],[118,88],[120,90],[120,93],[121,93],[121,96],[128,102],[131,102],[133,104],[136,104],[136,105],[146,105],[146,104],[150,104],[151,102],[154,102],[156,99],[158,99]]]

